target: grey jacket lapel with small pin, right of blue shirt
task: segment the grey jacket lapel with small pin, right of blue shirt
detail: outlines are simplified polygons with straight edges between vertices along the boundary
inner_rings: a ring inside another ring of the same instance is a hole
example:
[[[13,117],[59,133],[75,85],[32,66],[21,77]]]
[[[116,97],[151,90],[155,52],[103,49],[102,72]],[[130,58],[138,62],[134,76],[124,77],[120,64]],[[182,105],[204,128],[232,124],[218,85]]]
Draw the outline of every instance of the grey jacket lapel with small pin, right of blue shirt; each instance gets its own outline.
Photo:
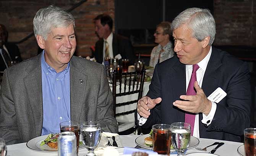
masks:
[[[80,121],[87,86],[87,75],[83,72],[85,67],[80,67],[76,61],[73,58],[70,61],[70,114],[72,121]]]

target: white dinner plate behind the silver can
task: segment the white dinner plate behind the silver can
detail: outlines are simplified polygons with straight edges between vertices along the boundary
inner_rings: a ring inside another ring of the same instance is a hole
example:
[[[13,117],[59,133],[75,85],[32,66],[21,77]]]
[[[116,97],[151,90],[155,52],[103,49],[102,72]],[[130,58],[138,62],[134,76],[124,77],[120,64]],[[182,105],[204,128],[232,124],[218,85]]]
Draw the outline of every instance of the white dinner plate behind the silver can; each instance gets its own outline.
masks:
[[[42,145],[40,146],[41,142],[43,140],[45,140],[45,138],[47,138],[48,135],[42,135],[40,137],[36,137],[36,138],[32,138],[31,140],[29,140],[27,142],[27,147],[30,149],[30,150],[33,150],[33,151],[39,151],[39,152],[58,152],[57,149],[54,149],[54,148],[50,148],[49,146],[47,145]],[[82,149],[82,148],[85,148],[84,145],[80,145],[79,146],[79,149]]]

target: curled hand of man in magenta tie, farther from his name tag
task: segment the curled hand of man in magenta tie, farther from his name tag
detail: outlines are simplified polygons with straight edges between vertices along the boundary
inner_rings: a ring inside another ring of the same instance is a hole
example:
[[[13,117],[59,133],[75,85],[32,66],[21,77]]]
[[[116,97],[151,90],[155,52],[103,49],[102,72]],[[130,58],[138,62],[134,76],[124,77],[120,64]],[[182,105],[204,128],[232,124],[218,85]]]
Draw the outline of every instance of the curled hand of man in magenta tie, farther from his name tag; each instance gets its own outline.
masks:
[[[137,111],[139,115],[143,116],[144,118],[148,118],[151,110],[156,106],[157,103],[160,103],[162,99],[160,97],[156,99],[151,99],[150,97],[144,96],[138,101]]]

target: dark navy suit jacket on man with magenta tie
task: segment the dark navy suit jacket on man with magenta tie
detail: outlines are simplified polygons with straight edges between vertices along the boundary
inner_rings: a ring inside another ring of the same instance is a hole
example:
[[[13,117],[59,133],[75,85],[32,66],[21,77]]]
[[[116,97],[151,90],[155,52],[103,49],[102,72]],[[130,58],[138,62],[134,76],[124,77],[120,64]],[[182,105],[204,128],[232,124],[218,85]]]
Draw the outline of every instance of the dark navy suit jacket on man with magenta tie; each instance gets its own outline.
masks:
[[[161,97],[162,102],[150,111],[151,115],[142,127],[185,121],[184,111],[172,104],[180,99],[180,95],[186,95],[185,70],[185,65],[176,56],[156,65],[147,96],[152,99]],[[248,65],[225,51],[212,47],[202,89],[208,97],[218,87],[227,96],[217,103],[214,118],[208,127],[201,122],[203,115],[199,113],[200,137],[241,142],[243,130],[250,126],[251,89]],[[135,118],[137,121],[137,114]]]

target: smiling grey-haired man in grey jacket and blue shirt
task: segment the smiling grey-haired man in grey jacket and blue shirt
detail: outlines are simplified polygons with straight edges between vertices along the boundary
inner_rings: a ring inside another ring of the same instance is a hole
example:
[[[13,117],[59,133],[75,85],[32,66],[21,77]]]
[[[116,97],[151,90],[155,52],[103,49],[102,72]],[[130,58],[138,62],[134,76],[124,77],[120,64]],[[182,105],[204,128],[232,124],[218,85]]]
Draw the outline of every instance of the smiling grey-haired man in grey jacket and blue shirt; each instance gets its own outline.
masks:
[[[63,121],[98,121],[118,132],[104,66],[73,56],[75,19],[57,6],[37,11],[37,44],[44,51],[5,70],[0,91],[0,137],[7,145],[60,132]]]

